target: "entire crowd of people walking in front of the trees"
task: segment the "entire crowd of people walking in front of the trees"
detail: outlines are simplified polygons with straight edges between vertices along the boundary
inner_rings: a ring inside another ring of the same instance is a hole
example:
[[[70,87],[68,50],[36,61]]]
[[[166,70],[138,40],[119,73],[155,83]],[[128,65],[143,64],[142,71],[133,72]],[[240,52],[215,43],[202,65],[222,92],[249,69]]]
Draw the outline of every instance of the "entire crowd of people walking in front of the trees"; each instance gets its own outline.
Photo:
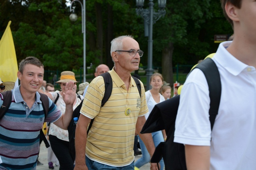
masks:
[[[187,169],[251,170],[256,165],[253,104],[256,24],[252,22],[256,17],[256,3],[252,0],[221,2],[234,34],[232,41],[219,45],[212,58],[222,83],[213,129],[209,120],[209,87],[203,72],[196,68],[182,85],[173,141],[185,145]],[[145,134],[141,130],[155,105],[172,100],[168,100],[172,96],[171,87],[160,73],[154,73],[151,88],[145,91],[143,83],[131,76],[139,69],[143,56],[132,36],[114,38],[110,54],[114,67],[111,70],[104,64],[96,67],[95,78],[90,83],[81,83],[77,93],[74,72],[63,71],[60,80],[49,84],[43,80],[44,66],[36,57],[27,57],[19,63],[18,87],[14,87],[14,82],[0,79],[0,105],[5,109],[4,115],[0,115],[0,170],[36,169],[41,164],[38,155],[42,128],[47,129],[45,135],[51,145],[49,169],[54,169],[55,164],[59,169],[131,170],[146,163],[150,163],[151,170],[165,169],[163,159],[159,163],[150,161],[155,148],[167,138],[165,130]],[[102,106],[106,82],[99,75],[106,72],[112,79],[112,92]],[[60,91],[55,90],[56,83]],[[179,86],[174,89],[173,97],[179,94]],[[241,89],[246,89],[243,95],[238,92]],[[10,90],[11,103],[3,105],[7,99],[3,94]],[[80,103],[73,157],[67,128]],[[138,141],[142,156],[134,162]]]

